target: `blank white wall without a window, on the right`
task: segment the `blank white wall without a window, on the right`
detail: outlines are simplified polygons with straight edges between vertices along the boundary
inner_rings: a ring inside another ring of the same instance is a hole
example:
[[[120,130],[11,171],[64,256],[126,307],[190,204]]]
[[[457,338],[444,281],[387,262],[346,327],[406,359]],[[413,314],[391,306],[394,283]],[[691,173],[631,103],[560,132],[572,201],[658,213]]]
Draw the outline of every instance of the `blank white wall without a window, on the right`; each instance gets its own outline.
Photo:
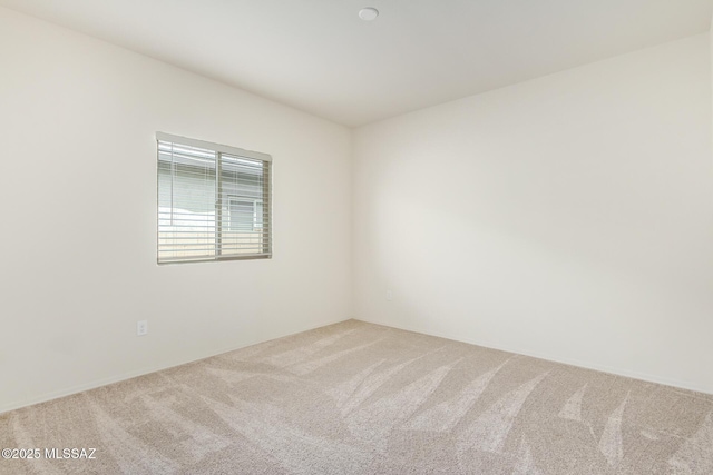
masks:
[[[709,48],[358,129],[356,317],[713,393]]]

